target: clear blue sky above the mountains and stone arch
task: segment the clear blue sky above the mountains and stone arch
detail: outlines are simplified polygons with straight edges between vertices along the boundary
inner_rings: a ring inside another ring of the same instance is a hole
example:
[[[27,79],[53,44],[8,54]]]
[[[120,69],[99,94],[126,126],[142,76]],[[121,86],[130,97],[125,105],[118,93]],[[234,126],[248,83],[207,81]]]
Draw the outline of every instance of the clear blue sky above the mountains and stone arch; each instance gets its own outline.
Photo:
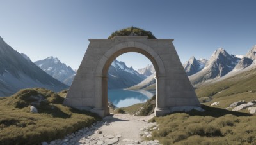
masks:
[[[174,39],[180,60],[209,59],[222,47],[244,55],[256,45],[256,1],[65,1],[0,0],[0,36],[31,60],[53,55],[77,69],[90,38],[108,38],[125,27],[141,27]],[[138,55],[140,56],[140,55]],[[148,60],[130,59],[138,69]],[[139,63],[141,62],[141,63]]]

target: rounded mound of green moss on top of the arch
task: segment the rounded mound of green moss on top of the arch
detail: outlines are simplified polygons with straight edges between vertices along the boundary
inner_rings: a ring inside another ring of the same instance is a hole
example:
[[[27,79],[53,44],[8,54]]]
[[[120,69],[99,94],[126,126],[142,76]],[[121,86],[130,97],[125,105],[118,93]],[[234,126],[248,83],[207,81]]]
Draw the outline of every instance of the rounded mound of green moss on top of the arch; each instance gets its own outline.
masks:
[[[114,38],[114,36],[148,36],[148,39],[156,39],[156,37],[150,31],[145,31],[138,27],[127,27],[113,32],[108,39]]]

